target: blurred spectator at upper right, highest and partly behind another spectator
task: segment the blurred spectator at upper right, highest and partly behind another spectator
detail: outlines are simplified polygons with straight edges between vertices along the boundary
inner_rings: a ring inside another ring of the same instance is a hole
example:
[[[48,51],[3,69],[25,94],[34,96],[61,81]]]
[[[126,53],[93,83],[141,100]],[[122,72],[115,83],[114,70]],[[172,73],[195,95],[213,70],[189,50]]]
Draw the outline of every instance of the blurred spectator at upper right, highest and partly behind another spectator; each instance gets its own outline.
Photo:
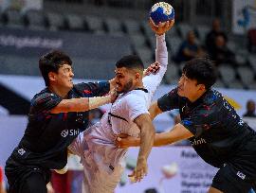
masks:
[[[212,22],[211,30],[206,36],[206,48],[209,53],[212,52],[212,47],[214,47],[215,39],[217,36],[222,36],[225,44],[228,43],[228,37],[227,34],[221,30],[220,27],[220,20],[219,19],[214,19]]]

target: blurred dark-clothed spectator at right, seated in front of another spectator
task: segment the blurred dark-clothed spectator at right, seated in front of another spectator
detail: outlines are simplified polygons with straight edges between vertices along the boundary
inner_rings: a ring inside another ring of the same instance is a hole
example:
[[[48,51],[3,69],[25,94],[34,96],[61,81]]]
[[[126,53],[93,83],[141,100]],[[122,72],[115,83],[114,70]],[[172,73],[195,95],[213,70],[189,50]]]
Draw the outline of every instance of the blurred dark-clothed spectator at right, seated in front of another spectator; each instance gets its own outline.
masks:
[[[214,45],[212,46],[210,58],[216,64],[229,63],[235,64],[235,55],[227,46],[227,43],[222,35],[216,37]]]

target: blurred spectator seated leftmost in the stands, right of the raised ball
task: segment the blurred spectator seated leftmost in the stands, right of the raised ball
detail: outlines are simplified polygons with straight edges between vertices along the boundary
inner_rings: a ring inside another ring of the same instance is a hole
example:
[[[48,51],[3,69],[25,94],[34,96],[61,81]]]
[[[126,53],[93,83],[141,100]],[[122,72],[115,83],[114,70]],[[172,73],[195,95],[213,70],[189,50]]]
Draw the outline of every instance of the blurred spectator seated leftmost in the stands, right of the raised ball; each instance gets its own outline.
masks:
[[[174,57],[174,61],[190,61],[196,57],[203,57],[205,52],[203,49],[196,44],[195,34],[193,31],[189,31],[187,40],[185,40],[179,47],[177,55]]]

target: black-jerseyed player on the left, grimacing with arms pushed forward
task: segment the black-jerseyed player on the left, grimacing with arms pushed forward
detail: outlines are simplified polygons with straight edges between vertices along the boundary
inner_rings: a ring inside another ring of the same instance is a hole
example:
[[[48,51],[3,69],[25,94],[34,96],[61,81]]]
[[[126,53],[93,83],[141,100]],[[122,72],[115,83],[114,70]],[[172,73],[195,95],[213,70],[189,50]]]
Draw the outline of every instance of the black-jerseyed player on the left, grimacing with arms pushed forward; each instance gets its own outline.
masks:
[[[86,129],[88,110],[110,103],[114,79],[73,84],[72,61],[60,51],[43,56],[39,67],[46,88],[30,105],[27,129],[6,163],[10,193],[46,193],[50,169],[62,169],[67,146]]]

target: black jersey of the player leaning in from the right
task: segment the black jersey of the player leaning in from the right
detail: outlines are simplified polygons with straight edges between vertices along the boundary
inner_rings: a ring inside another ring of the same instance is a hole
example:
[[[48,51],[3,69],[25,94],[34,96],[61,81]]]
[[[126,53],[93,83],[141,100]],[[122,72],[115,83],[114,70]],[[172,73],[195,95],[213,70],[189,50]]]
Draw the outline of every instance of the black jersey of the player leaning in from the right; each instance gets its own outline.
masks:
[[[157,100],[161,111],[179,109],[181,124],[194,135],[193,149],[213,167],[229,163],[256,177],[256,133],[215,90],[194,102],[178,96],[177,88]]]

